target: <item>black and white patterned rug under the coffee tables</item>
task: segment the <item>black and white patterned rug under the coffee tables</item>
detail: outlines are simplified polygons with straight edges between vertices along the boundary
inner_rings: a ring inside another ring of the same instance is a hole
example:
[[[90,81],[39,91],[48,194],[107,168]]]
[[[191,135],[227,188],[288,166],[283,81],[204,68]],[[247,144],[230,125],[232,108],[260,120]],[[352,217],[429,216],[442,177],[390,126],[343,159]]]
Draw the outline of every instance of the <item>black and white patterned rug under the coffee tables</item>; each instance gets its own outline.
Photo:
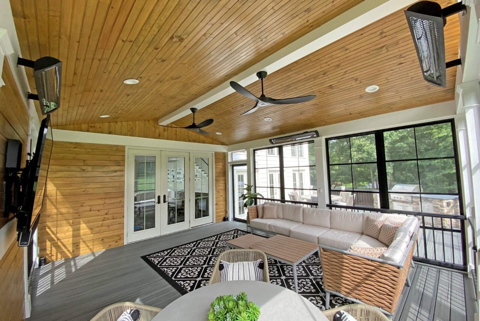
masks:
[[[141,258],[178,292],[185,294],[208,284],[218,254],[226,249],[225,241],[245,235],[247,232],[232,229],[180,246],[154,252]],[[325,309],[325,291],[318,255],[312,254],[296,266],[298,293]],[[294,291],[292,266],[268,258],[270,283]],[[330,295],[330,307],[350,304],[351,301]]]

